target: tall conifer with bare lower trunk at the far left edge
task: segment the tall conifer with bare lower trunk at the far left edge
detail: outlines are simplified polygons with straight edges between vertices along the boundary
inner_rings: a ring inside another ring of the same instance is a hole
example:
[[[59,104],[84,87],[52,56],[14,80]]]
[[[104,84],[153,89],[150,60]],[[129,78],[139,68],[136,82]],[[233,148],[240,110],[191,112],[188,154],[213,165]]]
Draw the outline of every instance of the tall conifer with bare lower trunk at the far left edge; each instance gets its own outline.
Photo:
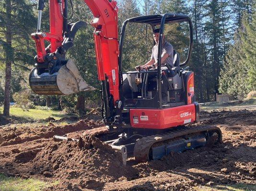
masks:
[[[33,58],[33,49],[29,46],[32,23],[36,20],[26,0],[0,2],[0,64],[5,64],[4,116],[10,114],[12,64],[23,67]]]

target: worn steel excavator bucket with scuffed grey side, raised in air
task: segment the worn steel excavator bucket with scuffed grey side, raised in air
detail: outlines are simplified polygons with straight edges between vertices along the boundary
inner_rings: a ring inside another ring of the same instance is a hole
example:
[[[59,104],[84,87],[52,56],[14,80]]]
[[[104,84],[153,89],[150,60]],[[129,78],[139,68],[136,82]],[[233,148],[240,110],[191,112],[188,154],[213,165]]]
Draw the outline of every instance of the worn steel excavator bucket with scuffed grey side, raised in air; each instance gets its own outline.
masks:
[[[53,74],[42,73],[35,67],[29,75],[29,85],[39,95],[70,95],[95,89],[83,80],[71,59]]]

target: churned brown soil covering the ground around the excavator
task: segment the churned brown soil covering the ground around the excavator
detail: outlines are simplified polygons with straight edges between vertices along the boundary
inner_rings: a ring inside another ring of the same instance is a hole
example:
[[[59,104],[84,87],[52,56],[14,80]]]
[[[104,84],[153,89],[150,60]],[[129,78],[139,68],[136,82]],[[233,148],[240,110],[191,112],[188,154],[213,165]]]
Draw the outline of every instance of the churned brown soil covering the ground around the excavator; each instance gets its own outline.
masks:
[[[120,154],[93,138],[102,123],[84,119],[59,126],[0,127],[0,173],[56,181],[47,191],[195,190],[197,185],[256,184],[256,111],[201,112],[196,125],[217,125],[223,142],[161,160],[123,167]],[[54,142],[53,135],[79,138]]]

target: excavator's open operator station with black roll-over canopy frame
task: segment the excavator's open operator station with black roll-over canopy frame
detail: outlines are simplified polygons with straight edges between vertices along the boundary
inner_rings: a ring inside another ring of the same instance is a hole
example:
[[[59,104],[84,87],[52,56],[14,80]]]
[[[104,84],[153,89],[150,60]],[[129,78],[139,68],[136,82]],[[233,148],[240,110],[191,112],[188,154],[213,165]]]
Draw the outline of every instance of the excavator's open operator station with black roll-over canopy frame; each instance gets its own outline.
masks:
[[[190,58],[193,45],[193,28],[192,22],[187,15],[165,13],[160,15],[139,16],[126,20],[122,26],[120,39],[120,58],[122,58],[125,30],[128,23],[139,23],[150,25],[152,31],[160,29],[158,50],[163,49],[163,33],[167,24],[181,23],[188,24],[189,27],[189,45],[186,47],[183,56],[184,62],[180,63],[180,55],[173,51],[174,62],[172,66],[165,64],[168,70],[162,71],[161,52],[158,52],[157,70],[139,70],[136,72],[123,72],[123,100],[126,108],[171,108],[191,104],[194,99],[194,73],[188,71],[189,67],[185,66]],[[184,25],[186,26],[186,25]],[[187,28],[184,28],[187,32]],[[186,60],[185,60],[186,59]],[[122,62],[122,59],[120,59]],[[122,65],[122,63],[121,63]],[[152,77],[154,76],[154,77]],[[165,82],[163,82],[165,81]],[[167,103],[162,102],[161,84],[168,84]],[[190,88],[188,88],[190,87]]]

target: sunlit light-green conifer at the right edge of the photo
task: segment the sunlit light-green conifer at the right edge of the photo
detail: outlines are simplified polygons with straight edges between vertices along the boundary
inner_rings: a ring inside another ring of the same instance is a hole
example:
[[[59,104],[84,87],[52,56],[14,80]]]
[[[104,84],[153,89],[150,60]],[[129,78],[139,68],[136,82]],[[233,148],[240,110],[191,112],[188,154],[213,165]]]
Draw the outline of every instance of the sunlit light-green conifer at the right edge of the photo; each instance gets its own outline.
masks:
[[[256,13],[251,22],[248,15],[243,17],[220,77],[221,93],[240,98],[256,88]]]

